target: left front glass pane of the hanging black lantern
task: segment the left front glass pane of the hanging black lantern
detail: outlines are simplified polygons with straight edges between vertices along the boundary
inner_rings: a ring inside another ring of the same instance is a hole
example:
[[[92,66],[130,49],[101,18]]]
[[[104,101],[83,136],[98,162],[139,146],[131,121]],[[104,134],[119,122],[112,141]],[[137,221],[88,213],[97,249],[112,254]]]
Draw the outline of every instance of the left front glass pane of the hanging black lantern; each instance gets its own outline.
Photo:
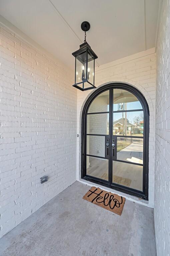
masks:
[[[76,84],[86,79],[86,53],[76,57]]]

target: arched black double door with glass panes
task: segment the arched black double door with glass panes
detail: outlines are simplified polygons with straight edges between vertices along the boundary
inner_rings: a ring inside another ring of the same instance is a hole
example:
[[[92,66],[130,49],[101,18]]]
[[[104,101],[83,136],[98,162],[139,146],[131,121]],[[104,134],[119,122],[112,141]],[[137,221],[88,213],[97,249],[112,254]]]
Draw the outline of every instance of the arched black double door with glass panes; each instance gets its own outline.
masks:
[[[82,112],[81,178],[148,200],[149,108],[134,87],[95,90]]]

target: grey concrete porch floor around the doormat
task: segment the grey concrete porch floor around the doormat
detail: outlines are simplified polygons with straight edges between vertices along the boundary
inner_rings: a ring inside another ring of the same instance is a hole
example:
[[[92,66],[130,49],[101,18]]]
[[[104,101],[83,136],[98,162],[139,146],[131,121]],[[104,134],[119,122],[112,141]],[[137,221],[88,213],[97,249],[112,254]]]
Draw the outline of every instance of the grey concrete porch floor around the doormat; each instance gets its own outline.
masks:
[[[82,197],[75,182],[0,239],[1,256],[156,256],[153,209],[126,200],[122,215]]]

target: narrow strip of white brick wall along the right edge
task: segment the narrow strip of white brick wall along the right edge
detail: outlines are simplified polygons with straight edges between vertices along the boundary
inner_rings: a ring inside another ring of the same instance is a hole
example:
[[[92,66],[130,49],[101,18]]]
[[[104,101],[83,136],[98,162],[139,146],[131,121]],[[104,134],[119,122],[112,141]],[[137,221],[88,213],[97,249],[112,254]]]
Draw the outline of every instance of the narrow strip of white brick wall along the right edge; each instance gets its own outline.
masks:
[[[170,0],[163,0],[157,46],[154,219],[158,256],[170,255]]]

